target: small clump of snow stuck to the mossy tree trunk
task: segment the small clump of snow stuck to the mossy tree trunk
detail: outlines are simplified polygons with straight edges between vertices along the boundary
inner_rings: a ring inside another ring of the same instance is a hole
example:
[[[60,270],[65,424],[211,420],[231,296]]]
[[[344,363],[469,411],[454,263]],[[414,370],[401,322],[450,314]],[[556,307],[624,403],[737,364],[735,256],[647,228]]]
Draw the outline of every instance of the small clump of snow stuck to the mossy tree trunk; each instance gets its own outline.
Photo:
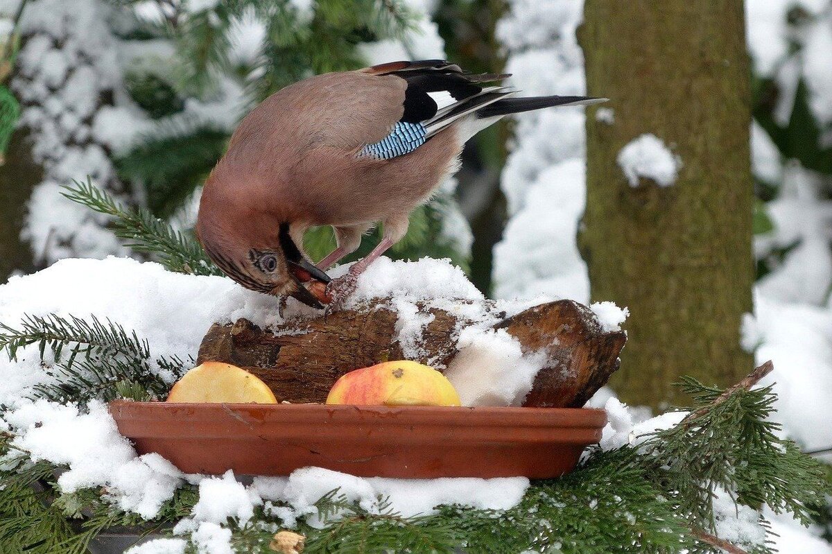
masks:
[[[681,159],[675,156],[664,141],[646,133],[628,142],[616,159],[630,186],[638,186],[641,178],[650,179],[659,186],[676,182]]]

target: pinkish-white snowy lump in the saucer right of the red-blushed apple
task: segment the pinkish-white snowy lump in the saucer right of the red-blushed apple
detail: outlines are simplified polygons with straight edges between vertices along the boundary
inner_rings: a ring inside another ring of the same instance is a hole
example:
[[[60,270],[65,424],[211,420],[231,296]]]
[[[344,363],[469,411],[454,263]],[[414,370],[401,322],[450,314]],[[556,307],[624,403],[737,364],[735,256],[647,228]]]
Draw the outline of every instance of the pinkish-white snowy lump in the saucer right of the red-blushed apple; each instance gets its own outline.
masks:
[[[547,361],[543,353],[524,354],[505,329],[468,327],[457,347],[444,374],[463,406],[520,406]]]

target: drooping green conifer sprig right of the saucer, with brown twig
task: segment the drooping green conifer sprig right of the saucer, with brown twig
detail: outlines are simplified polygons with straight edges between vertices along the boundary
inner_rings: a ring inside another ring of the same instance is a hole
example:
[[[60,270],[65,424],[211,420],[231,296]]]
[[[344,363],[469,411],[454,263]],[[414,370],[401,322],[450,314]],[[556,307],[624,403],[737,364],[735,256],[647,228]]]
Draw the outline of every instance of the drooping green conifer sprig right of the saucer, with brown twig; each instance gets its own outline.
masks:
[[[770,421],[771,387],[750,390],[770,371],[770,363],[763,364],[727,391],[683,379],[681,388],[701,408],[642,446],[662,468],[656,478],[670,483],[680,509],[705,531],[714,529],[711,499],[717,487],[735,493],[745,506],[791,512],[807,525],[810,506],[823,503],[823,467],[778,436],[780,425]]]

